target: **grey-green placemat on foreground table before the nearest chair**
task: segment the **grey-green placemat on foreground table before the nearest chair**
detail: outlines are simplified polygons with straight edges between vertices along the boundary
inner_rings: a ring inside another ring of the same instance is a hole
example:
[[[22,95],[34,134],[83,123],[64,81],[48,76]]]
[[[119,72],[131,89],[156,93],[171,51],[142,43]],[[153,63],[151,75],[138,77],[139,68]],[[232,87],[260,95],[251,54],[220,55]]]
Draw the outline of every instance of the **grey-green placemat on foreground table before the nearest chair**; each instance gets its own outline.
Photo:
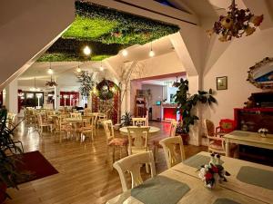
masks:
[[[146,204],[176,204],[189,190],[186,183],[157,176],[131,190],[131,196]]]

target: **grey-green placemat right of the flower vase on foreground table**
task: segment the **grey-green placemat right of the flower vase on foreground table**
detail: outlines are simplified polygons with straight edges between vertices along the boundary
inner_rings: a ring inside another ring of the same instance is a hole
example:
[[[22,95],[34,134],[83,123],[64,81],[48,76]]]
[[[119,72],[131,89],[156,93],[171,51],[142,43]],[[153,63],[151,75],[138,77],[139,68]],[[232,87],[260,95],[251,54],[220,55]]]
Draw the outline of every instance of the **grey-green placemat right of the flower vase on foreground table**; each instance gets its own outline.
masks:
[[[273,171],[261,170],[254,167],[241,167],[237,179],[265,189],[273,189]]]

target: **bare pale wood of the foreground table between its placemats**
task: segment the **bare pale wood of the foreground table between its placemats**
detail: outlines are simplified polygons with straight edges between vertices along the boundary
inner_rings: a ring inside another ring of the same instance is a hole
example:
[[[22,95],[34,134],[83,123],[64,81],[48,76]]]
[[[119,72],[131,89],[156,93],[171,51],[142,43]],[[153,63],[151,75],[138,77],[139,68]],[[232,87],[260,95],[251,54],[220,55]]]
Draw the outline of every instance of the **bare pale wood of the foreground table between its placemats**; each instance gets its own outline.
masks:
[[[209,156],[207,152],[200,152],[199,154]],[[177,164],[175,167],[166,170],[159,175],[187,184],[190,190],[177,202],[181,204],[213,204],[217,199],[232,199],[240,204],[273,202],[272,190],[251,186],[246,183],[239,183],[238,180],[236,181],[236,172],[239,167],[243,165],[255,166],[267,170],[273,170],[273,168],[227,157],[223,157],[222,159],[225,161],[225,168],[231,173],[231,176],[227,178],[227,183],[229,184],[228,188],[226,182],[219,185],[216,189],[210,190],[205,188],[203,181],[197,176],[197,169],[183,163]],[[131,196],[131,190],[128,190],[116,196],[114,199],[108,200],[106,203],[142,204],[143,202]]]

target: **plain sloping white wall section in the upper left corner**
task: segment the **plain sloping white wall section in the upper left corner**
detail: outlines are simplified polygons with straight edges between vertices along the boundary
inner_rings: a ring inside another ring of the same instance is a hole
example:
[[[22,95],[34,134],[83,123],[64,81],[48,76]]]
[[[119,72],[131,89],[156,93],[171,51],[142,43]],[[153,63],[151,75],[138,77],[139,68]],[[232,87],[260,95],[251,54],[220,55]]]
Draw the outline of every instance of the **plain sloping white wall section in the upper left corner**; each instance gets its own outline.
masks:
[[[24,73],[74,17],[73,0],[1,1],[0,90]]]

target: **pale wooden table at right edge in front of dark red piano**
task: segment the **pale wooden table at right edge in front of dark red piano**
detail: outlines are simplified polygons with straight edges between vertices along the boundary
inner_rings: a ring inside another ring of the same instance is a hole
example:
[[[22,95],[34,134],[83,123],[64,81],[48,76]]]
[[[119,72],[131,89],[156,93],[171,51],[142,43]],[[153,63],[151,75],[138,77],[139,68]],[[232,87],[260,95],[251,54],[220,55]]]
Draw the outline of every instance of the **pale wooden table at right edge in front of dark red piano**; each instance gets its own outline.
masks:
[[[258,148],[273,150],[273,134],[268,134],[266,138],[252,131],[231,131],[224,135],[226,141],[226,156],[230,156],[230,143],[244,144]]]

